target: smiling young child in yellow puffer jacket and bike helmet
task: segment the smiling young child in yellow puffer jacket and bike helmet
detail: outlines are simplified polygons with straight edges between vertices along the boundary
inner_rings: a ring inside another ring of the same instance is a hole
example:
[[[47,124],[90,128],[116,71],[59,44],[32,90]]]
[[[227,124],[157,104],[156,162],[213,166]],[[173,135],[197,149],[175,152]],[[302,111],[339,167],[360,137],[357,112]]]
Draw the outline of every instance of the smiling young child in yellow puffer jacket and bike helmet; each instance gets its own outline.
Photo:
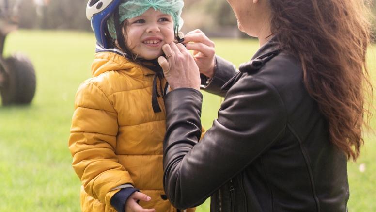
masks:
[[[177,38],[183,5],[182,0],[88,3],[97,39],[93,78],[78,88],[69,137],[83,212],[179,211],[162,185],[163,97],[169,88],[157,58],[162,45]]]

